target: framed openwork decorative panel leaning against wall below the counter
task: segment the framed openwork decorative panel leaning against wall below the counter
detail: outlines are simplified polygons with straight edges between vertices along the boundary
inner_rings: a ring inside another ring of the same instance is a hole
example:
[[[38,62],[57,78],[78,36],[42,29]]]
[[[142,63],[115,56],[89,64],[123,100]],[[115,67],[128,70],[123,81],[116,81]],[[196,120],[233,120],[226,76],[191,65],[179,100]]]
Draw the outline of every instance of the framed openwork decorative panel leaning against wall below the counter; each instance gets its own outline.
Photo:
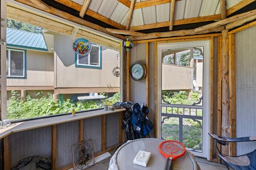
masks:
[[[73,144],[73,169],[87,169],[95,164],[92,139]]]

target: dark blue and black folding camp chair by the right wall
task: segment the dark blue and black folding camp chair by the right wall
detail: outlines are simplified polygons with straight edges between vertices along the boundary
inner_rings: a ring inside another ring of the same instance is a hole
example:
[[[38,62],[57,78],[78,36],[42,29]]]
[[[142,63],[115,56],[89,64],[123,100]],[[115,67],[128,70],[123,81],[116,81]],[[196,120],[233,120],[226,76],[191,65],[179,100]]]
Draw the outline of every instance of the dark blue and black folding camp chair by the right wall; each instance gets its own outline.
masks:
[[[217,143],[221,145],[227,145],[229,142],[256,141],[256,136],[230,138],[210,133],[209,135],[215,139],[218,156],[225,163],[228,170],[230,170],[229,166],[232,167],[234,170],[256,170],[256,149],[245,155],[229,156],[222,154],[217,145]]]

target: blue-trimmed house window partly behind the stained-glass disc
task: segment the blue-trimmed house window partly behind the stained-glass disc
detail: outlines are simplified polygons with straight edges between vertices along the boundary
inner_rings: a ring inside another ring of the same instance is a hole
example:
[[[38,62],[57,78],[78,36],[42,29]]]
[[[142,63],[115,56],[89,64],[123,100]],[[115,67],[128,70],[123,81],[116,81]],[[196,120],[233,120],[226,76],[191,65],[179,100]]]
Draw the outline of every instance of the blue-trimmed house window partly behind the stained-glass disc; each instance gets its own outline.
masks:
[[[85,56],[76,54],[76,67],[101,69],[101,46],[92,44],[90,54]]]

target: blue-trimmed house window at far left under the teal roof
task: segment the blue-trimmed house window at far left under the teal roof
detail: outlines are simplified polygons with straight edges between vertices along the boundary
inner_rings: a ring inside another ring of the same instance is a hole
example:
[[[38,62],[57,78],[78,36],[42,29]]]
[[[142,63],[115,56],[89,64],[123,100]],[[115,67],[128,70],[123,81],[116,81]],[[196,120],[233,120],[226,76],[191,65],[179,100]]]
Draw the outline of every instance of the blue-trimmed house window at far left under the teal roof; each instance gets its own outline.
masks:
[[[6,50],[7,77],[25,78],[25,54],[24,50]]]

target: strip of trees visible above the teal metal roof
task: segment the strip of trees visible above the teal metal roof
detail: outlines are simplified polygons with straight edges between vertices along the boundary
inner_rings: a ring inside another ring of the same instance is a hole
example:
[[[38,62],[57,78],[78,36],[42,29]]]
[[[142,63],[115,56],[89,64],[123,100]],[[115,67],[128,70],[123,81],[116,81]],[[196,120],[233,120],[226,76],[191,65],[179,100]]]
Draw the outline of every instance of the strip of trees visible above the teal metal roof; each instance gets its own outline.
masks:
[[[23,31],[28,31],[32,33],[41,33],[40,27],[28,25],[27,23],[12,20],[12,19],[7,19],[7,28],[23,30]]]

